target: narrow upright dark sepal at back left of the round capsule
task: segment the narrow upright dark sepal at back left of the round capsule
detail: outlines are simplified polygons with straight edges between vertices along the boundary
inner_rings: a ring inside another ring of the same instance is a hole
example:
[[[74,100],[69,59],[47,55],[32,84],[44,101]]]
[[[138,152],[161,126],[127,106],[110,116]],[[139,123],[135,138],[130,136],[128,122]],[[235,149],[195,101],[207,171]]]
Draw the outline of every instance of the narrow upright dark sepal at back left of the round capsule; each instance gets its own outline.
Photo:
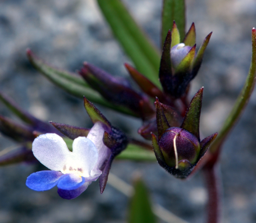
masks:
[[[163,132],[167,130],[167,128],[170,128],[170,125],[165,117],[163,108],[161,107],[161,103],[159,102],[158,98],[156,98],[155,105],[156,105],[156,126],[158,131],[158,140],[160,140],[161,135],[163,135]]]

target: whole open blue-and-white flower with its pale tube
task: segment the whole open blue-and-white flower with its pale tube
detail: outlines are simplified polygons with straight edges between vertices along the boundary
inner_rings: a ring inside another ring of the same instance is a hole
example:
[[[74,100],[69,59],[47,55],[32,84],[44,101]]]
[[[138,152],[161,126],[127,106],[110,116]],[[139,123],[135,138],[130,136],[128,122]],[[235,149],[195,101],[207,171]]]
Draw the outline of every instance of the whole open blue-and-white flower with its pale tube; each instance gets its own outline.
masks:
[[[50,170],[31,174],[26,185],[36,191],[58,186],[58,194],[73,199],[102,174],[100,168],[111,156],[104,145],[104,124],[96,122],[87,137],[74,139],[72,152],[64,140],[55,133],[39,135],[32,144],[34,156]]]

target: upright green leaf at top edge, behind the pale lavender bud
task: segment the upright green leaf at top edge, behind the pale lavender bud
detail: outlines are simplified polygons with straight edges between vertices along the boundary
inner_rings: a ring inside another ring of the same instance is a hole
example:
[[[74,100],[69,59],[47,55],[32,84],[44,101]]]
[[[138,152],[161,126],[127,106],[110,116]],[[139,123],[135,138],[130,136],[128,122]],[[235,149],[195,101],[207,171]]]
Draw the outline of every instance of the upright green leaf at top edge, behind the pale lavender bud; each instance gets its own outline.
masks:
[[[161,31],[162,46],[168,30],[173,27],[174,20],[180,32],[180,39],[183,40],[185,37],[186,26],[185,0],[163,0]]]

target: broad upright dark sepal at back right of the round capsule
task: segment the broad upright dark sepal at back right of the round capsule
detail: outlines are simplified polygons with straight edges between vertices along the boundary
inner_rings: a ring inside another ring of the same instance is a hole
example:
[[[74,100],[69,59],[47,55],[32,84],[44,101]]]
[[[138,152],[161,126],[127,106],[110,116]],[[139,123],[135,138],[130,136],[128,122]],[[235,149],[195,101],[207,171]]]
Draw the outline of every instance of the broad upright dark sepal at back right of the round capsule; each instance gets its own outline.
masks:
[[[195,135],[198,138],[199,142],[199,122],[202,108],[203,90],[204,87],[200,88],[200,90],[198,90],[195,96],[192,98],[188,106],[186,115],[184,117],[183,123],[180,126],[180,128],[184,128],[187,131],[191,132],[193,135]]]

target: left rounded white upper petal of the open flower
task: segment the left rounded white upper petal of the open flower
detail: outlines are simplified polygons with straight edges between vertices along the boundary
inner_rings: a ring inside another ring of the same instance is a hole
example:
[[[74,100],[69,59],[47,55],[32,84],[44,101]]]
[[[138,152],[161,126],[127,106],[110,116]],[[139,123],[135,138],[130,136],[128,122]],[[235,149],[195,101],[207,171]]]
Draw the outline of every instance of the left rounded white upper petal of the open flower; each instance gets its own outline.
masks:
[[[39,135],[32,143],[32,152],[50,170],[63,170],[71,154],[64,140],[55,133]]]

